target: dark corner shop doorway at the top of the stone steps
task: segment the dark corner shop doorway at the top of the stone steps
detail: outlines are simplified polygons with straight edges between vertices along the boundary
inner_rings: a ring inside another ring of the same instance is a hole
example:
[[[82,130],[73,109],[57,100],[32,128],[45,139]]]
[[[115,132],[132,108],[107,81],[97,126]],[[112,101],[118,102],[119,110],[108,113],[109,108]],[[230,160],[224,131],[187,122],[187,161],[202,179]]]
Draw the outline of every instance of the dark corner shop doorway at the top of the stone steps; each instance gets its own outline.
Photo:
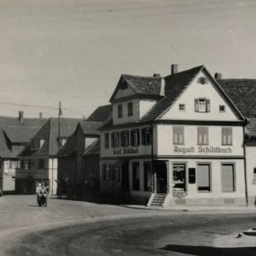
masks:
[[[155,161],[156,193],[167,193],[167,166],[165,161]]]

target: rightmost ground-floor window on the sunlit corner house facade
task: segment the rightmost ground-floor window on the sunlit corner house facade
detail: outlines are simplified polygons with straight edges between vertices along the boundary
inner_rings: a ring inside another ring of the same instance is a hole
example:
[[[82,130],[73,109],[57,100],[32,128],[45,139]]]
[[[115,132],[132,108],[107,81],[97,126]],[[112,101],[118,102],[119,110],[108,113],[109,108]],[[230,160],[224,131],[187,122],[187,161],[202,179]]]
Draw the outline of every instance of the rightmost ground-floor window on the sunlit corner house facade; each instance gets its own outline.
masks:
[[[235,168],[233,164],[221,165],[222,192],[235,191]]]

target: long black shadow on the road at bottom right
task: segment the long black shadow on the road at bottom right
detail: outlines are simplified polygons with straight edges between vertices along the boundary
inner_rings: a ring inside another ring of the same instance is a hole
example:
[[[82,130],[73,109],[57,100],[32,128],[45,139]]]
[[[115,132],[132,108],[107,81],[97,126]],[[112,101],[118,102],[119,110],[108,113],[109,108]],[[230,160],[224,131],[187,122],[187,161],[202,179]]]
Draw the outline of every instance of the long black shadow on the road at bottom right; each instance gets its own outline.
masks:
[[[256,255],[256,247],[239,247],[239,248],[216,248],[209,246],[191,246],[168,244],[161,250],[182,252],[189,255],[199,256],[245,256]]]

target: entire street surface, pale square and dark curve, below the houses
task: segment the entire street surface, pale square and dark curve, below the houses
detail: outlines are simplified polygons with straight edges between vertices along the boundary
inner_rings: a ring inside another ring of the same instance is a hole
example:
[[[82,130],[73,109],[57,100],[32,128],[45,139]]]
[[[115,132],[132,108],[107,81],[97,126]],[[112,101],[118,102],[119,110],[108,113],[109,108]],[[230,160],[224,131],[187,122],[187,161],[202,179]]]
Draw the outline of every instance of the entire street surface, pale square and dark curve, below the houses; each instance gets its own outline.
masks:
[[[253,212],[146,210],[56,198],[49,199],[48,208],[38,208],[31,196],[1,199],[2,255],[209,256],[256,252],[255,236],[236,238],[239,232],[254,227]]]

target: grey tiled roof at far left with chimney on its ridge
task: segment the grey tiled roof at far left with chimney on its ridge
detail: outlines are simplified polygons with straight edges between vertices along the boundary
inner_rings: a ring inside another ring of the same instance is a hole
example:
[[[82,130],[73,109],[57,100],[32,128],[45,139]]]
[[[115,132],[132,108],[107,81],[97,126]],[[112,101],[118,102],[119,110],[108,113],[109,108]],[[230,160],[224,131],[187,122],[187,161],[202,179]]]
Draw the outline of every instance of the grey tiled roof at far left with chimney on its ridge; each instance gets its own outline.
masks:
[[[12,143],[29,143],[47,119],[0,116],[0,127]]]

